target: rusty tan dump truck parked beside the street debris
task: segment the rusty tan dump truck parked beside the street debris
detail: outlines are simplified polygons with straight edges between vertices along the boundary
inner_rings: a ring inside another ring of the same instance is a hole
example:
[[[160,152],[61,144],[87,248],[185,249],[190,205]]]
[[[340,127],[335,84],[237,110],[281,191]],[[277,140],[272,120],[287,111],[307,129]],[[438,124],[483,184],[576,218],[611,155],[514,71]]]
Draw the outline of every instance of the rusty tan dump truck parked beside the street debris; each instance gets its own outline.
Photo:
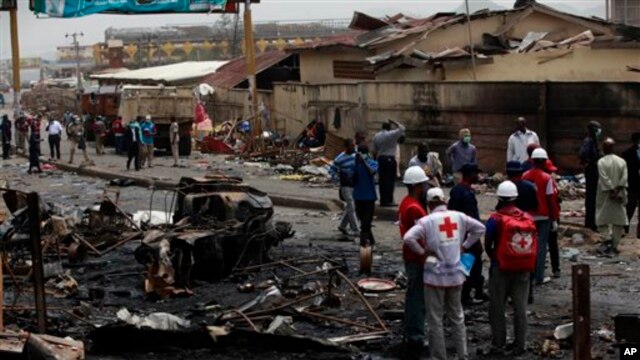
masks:
[[[157,129],[154,146],[168,152],[171,152],[169,126],[175,117],[180,134],[179,154],[189,156],[195,101],[190,87],[124,85],[120,90],[118,116],[126,126],[138,116],[150,115]]]

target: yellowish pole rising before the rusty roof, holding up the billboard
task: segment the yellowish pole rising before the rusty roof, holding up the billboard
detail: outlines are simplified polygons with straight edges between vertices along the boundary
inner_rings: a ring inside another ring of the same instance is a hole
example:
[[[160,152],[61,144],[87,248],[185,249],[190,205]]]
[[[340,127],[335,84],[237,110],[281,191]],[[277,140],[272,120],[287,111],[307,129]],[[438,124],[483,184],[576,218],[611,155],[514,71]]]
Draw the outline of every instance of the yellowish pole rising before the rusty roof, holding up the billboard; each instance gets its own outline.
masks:
[[[253,42],[253,22],[251,20],[251,0],[245,1],[244,6],[244,41],[245,41],[245,60],[247,63],[247,78],[249,79],[249,96],[251,106],[249,113],[251,114],[251,143],[255,144],[256,137],[262,139],[262,126],[258,117],[258,90],[256,84],[256,54]],[[260,141],[262,150],[264,150],[264,141]],[[251,148],[251,146],[249,146]]]

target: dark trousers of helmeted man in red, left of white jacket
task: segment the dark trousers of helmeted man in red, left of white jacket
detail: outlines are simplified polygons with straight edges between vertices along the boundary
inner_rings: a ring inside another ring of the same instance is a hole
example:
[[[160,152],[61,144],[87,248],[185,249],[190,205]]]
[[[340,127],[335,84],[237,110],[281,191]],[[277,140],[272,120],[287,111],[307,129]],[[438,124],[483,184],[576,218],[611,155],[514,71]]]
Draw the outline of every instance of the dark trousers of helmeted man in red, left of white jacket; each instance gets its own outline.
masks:
[[[417,262],[405,262],[407,271],[407,292],[404,297],[404,336],[408,343],[424,342],[424,282],[423,265]]]

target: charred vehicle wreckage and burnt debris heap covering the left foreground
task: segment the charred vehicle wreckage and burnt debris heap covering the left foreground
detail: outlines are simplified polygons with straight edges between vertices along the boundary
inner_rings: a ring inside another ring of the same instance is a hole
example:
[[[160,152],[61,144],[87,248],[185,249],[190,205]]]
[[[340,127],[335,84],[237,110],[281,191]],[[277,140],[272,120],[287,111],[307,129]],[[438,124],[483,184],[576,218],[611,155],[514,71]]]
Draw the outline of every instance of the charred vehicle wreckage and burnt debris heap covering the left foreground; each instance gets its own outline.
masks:
[[[0,224],[9,275],[0,296],[13,297],[0,311],[11,324],[0,316],[3,358],[82,359],[85,346],[94,355],[240,349],[350,358],[358,352],[350,344],[391,331],[365,287],[345,275],[344,257],[300,247],[269,255],[294,236],[292,225],[275,221],[268,195],[239,178],[153,189],[168,194],[172,210],[161,224],[134,221],[111,188],[87,209],[0,191],[11,213]],[[83,341],[52,336],[69,334]]]

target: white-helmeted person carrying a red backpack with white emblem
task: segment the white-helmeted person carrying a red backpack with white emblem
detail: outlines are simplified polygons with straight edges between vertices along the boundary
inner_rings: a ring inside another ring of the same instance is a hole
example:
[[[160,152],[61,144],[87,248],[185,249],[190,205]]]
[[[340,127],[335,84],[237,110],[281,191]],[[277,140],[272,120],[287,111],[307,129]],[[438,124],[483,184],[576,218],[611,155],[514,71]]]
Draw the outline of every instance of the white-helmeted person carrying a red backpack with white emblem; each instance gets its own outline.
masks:
[[[498,186],[496,212],[486,223],[485,249],[491,259],[489,269],[490,355],[517,357],[526,352],[527,297],[531,272],[537,256],[537,230],[533,217],[518,209],[516,184]],[[507,327],[505,305],[511,299],[515,341],[505,354]]]

